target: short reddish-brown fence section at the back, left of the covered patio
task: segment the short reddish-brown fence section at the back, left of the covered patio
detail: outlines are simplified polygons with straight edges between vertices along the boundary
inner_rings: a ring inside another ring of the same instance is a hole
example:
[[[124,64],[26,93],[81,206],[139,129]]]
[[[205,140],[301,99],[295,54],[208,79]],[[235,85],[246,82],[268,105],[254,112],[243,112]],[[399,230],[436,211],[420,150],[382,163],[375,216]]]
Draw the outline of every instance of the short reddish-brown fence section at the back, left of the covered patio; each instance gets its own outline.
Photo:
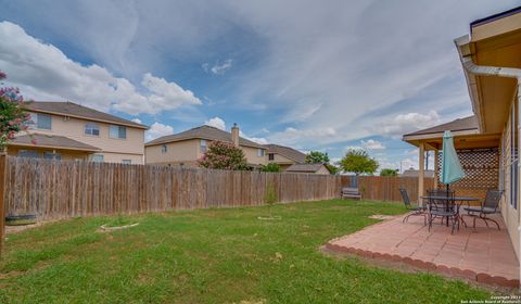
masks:
[[[353,185],[354,176],[342,176],[342,185]],[[418,177],[386,177],[386,176],[359,176],[358,189],[363,200],[402,201],[398,189],[404,188],[409,198],[416,201],[418,198]],[[434,188],[434,179],[423,179],[424,191]],[[425,194],[425,193],[423,193]]]

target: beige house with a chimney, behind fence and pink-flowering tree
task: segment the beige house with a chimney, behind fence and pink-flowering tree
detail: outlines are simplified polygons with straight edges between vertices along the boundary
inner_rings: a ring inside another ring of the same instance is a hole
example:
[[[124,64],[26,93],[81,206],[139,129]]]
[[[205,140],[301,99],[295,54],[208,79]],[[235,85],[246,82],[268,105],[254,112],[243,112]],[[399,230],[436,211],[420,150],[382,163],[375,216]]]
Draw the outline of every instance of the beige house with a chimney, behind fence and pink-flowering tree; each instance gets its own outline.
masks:
[[[160,137],[144,144],[145,163],[163,165],[198,166],[198,159],[205,152],[212,141],[233,143],[244,151],[246,162],[252,167],[265,165],[266,148],[239,136],[234,125],[231,132],[211,126],[200,126],[179,134]]]

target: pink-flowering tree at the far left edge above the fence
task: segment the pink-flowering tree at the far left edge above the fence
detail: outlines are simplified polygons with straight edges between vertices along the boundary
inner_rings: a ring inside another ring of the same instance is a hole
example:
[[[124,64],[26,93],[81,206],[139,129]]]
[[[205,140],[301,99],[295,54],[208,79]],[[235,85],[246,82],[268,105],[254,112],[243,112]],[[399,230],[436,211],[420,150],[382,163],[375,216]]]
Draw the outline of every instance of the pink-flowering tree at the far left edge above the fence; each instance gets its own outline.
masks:
[[[0,71],[0,80],[5,78],[5,73]],[[30,122],[30,115],[25,107],[27,103],[17,88],[0,87],[0,152],[5,150],[8,142],[14,139],[17,132],[27,132],[27,123]],[[31,142],[36,144],[36,139]]]

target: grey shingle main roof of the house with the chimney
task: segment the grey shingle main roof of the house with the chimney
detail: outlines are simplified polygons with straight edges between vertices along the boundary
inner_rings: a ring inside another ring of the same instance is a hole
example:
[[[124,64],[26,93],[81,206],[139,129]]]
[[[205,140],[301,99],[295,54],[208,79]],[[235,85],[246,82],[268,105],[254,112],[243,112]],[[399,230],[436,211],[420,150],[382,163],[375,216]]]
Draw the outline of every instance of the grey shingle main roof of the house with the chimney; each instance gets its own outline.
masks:
[[[192,129],[189,129],[189,130],[186,130],[186,131],[182,131],[182,132],[178,132],[178,134],[174,134],[174,135],[167,135],[167,136],[156,138],[152,141],[147,142],[144,145],[145,147],[156,145],[156,144],[188,140],[188,139],[206,139],[206,140],[218,140],[218,141],[224,141],[224,142],[232,142],[230,132],[227,132],[227,131],[224,131],[221,129],[205,125],[205,126],[200,126],[200,127],[196,127],[196,128],[192,128]],[[245,145],[245,147],[266,149],[262,144],[258,144],[256,142],[253,142],[253,141],[247,140],[247,139],[242,138],[242,137],[239,137],[239,144],[240,145]]]

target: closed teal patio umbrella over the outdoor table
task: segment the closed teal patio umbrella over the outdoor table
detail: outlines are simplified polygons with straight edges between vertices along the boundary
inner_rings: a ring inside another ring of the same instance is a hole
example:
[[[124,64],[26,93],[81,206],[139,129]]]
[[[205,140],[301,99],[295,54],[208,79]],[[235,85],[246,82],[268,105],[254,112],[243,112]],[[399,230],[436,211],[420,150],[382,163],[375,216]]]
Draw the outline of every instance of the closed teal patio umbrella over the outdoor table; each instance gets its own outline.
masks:
[[[443,135],[443,150],[442,150],[442,173],[440,181],[448,186],[465,177],[465,172],[459,163],[458,153],[454,148],[453,135],[450,131],[445,131]]]

